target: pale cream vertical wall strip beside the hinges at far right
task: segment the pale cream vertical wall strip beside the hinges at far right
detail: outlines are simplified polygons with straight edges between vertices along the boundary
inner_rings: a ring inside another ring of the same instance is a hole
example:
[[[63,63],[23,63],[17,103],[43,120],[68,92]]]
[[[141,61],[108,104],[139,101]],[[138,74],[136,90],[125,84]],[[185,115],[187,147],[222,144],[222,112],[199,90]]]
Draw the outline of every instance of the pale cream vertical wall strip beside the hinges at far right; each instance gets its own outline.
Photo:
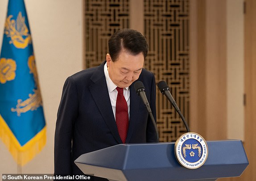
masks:
[[[244,0],[227,0],[227,138],[244,140]]]

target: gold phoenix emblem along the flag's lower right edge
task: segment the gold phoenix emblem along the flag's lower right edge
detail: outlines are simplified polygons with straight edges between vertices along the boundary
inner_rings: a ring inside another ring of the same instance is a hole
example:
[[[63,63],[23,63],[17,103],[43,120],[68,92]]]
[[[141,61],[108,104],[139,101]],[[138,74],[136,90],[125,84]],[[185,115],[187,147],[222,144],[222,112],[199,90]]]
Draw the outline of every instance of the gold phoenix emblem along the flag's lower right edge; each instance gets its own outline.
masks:
[[[17,111],[17,115],[20,116],[21,113],[25,113],[27,111],[37,110],[38,107],[42,106],[41,92],[37,77],[37,69],[35,65],[35,57],[31,55],[28,60],[29,73],[32,73],[34,76],[34,81],[37,89],[33,89],[34,94],[29,94],[29,98],[22,102],[21,99],[18,99],[18,104],[16,108],[12,108],[12,112]]]

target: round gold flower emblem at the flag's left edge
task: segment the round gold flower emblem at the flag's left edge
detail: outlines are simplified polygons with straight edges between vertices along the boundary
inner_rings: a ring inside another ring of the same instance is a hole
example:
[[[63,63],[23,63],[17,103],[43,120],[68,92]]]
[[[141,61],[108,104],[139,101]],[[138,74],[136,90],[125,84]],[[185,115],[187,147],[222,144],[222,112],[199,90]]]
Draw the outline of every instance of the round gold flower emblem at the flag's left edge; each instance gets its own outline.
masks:
[[[16,62],[10,58],[0,59],[0,83],[11,81],[15,78]]]

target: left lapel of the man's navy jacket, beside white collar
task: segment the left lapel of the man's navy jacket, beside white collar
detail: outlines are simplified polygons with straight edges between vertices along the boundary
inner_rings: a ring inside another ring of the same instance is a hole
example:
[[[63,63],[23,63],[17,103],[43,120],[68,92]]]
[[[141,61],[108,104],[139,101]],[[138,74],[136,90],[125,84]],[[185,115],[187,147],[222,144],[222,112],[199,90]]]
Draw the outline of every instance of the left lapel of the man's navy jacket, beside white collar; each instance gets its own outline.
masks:
[[[104,63],[101,64],[99,68],[95,71],[95,73],[92,75],[91,80],[95,83],[92,84],[89,87],[89,89],[105,123],[112,132],[116,141],[121,144],[122,140],[117,130],[115,117],[113,115],[113,110],[109,99],[109,94],[107,91],[107,82],[103,70]]]

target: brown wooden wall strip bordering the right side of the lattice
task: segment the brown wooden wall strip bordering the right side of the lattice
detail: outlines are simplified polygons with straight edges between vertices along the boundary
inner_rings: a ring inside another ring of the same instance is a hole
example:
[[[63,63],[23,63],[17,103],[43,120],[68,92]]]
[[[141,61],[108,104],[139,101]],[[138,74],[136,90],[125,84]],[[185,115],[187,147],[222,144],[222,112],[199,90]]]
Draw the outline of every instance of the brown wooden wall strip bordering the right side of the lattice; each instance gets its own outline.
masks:
[[[202,136],[207,135],[205,7],[205,0],[190,0],[190,130]]]

